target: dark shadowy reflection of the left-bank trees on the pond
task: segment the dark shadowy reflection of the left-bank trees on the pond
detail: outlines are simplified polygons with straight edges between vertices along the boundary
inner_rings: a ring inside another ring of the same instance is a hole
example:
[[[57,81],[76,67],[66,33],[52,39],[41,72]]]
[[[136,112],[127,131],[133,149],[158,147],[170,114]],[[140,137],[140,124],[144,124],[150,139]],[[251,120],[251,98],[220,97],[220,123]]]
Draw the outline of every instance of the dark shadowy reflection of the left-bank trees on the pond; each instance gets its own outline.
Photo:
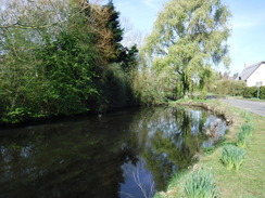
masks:
[[[131,149],[117,145],[122,144],[118,138],[96,140],[80,132],[4,138],[0,141],[0,194],[118,197],[119,184],[124,182],[121,167],[135,159]]]

